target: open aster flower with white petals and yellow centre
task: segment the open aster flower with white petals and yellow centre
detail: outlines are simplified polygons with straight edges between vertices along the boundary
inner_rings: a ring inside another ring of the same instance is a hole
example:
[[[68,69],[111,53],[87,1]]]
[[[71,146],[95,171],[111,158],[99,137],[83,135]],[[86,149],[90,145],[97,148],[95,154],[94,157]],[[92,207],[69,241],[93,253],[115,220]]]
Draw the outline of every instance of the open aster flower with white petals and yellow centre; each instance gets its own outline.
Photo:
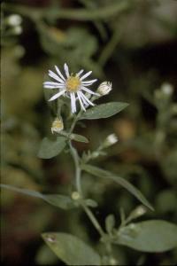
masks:
[[[94,106],[94,104],[89,100],[89,98],[85,95],[86,93],[89,93],[90,95],[97,95],[98,93],[89,90],[87,87],[91,86],[95,80],[89,80],[85,81],[85,79],[92,73],[92,71],[89,71],[86,74],[83,73],[83,69],[81,69],[80,72],[77,74],[70,74],[69,68],[65,64],[65,76],[61,74],[58,66],[55,66],[57,74],[55,74],[53,71],[49,70],[49,76],[55,80],[55,82],[44,82],[44,88],[45,89],[58,89],[58,93],[56,93],[54,96],[52,96],[49,101],[53,101],[61,96],[66,96],[68,98],[71,98],[71,109],[72,113],[76,112],[76,101],[79,100],[81,109],[86,111],[87,106]]]

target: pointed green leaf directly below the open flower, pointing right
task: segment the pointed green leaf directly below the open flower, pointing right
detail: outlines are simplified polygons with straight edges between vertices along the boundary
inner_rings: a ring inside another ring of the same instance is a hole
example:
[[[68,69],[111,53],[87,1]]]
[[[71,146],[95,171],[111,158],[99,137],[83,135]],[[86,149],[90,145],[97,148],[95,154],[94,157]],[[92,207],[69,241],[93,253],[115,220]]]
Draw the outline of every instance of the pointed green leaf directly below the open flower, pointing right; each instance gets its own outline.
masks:
[[[121,102],[112,102],[99,106],[94,106],[92,108],[89,108],[85,113],[82,113],[80,120],[107,118],[116,113],[119,113],[127,106],[128,106],[127,103],[121,103]]]

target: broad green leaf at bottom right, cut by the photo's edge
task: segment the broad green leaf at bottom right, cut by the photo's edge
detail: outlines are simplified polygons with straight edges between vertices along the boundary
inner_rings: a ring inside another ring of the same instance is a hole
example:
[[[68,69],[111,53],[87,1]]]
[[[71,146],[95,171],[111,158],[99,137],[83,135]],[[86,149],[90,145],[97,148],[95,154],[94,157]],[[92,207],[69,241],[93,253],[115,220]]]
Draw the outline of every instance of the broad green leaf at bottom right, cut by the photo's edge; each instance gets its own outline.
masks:
[[[116,243],[143,252],[165,252],[177,246],[177,226],[162,220],[131,223],[120,229]]]

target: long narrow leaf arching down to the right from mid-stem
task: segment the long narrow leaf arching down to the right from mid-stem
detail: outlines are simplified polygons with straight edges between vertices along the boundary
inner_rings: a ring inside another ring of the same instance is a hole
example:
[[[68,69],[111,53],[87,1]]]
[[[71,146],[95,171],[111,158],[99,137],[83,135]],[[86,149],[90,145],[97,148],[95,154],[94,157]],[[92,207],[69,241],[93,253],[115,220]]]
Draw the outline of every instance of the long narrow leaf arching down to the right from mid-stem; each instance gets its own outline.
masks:
[[[132,193],[136,199],[140,200],[146,207],[149,207],[150,210],[154,210],[154,208],[150,205],[149,201],[146,200],[146,198],[142,195],[142,192],[136,189],[135,186],[133,184],[130,184],[126,179],[120,176],[115,176],[109,171],[105,171],[104,169],[97,168],[88,164],[82,165],[81,168],[89,174],[92,174],[93,176],[112,179],[116,183],[126,188],[128,192]]]

